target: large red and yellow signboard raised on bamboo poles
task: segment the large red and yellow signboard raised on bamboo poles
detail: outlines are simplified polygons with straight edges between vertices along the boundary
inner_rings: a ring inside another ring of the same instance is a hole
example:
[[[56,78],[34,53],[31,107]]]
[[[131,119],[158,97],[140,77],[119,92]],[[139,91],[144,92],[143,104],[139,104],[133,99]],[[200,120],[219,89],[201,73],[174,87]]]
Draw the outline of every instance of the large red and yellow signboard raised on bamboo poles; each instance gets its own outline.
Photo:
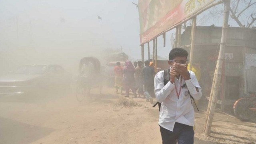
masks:
[[[189,18],[215,0],[139,0],[140,43]]]

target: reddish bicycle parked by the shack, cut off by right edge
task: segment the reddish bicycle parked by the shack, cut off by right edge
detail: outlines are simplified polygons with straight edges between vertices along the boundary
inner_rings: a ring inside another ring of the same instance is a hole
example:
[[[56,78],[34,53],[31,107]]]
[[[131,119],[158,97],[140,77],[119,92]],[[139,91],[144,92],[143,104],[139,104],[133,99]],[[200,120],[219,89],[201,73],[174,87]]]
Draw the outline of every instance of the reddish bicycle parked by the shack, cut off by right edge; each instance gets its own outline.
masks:
[[[235,116],[242,121],[250,120],[256,112],[256,92],[248,93],[248,97],[236,100],[233,106]]]

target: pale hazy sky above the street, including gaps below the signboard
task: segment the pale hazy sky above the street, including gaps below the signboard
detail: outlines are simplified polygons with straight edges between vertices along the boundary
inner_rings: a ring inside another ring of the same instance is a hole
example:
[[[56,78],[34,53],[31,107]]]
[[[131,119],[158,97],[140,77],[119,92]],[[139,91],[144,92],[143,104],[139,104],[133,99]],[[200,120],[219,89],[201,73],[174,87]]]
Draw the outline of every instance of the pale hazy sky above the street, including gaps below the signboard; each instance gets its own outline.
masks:
[[[122,46],[130,60],[140,59],[138,8],[132,2],[138,0],[0,0],[0,56],[18,64],[30,60],[74,64],[84,56],[101,58],[104,49]],[[221,26],[222,18],[204,24],[213,22]],[[174,33],[166,34],[166,47],[158,38],[159,56],[168,57]],[[152,42],[150,46],[152,53]]]

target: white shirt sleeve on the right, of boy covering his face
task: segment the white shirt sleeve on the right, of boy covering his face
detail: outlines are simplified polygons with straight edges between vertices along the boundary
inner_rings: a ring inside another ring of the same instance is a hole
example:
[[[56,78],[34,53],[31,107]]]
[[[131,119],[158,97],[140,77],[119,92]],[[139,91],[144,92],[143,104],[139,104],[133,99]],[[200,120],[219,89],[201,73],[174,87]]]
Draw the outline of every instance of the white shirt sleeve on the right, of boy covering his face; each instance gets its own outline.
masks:
[[[189,80],[185,80],[186,85],[188,87],[188,90],[189,90],[191,96],[193,96],[193,98],[195,100],[199,100],[201,98],[201,96],[202,96],[202,88],[200,87],[194,72],[189,71],[189,73],[190,73],[190,79]],[[195,87],[198,88],[198,92],[196,91]]]

